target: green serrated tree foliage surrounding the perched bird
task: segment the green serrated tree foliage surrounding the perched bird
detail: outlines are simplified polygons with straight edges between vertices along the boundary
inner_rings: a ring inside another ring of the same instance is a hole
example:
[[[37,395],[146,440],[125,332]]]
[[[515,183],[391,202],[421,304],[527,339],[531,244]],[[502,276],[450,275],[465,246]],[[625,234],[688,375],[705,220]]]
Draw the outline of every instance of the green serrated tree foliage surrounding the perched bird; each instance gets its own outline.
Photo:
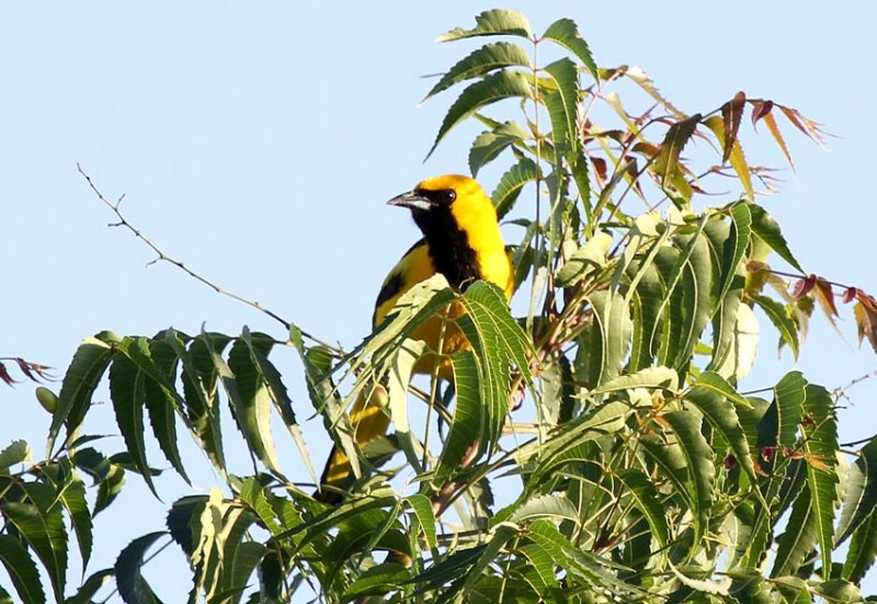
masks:
[[[350,352],[295,326],[281,340],[246,328],[86,340],[48,409],[46,459],[25,464],[23,442],[0,454],[9,592],[88,602],[114,579],[125,601],[152,602],[144,560],[171,539],[193,601],[859,599],[877,556],[877,440],[847,464],[835,396],[798,372],[763,398],[738,389],[764,318],[796,356],[816,306],[833,322],[839,300],[854,303],[859,339],[877,347],[877,303],[804,271],[762,204],[771,171],[743,151],[747,115],[789,164],[781,123],[821,141],[819,125],[742,92],[684,113],[640,69],[599,67],[567,19],[535,35],[522,14],[488,11],[440,39],[480,36],[503,41],[456,62],[428,99],[464,87],[435,145],[477,123],[471,173],[502,167],[492,198],[520,228],[520,316],[489,284],[459,293],[436,277]],[[733,194],[716,193],[728,182]],[[472,350],[452,356],[453,385],[409,386],[423,351],[409,334],[451,304],[467,310],[449,320]],[[361,477],[339,505],[281,467],[272,418],[316,481],[278,346],[299,355],[314,409]],[[86,431],[104,378],[125,445],[109,456]],[[396,433],[360,451],[345,410],[374,388]],[[425,420],[409,417],[424,402]],[[520,421],[527,410],[535,419]],[[227,461],[229,418],[249,469]],[[189,480],[181,429],[224,489],[178,500],[167,532],[132,535],[113,568],[71,590],[68,524],[87,567],[93,517],[126,475],[157,492],[150,447]]]

